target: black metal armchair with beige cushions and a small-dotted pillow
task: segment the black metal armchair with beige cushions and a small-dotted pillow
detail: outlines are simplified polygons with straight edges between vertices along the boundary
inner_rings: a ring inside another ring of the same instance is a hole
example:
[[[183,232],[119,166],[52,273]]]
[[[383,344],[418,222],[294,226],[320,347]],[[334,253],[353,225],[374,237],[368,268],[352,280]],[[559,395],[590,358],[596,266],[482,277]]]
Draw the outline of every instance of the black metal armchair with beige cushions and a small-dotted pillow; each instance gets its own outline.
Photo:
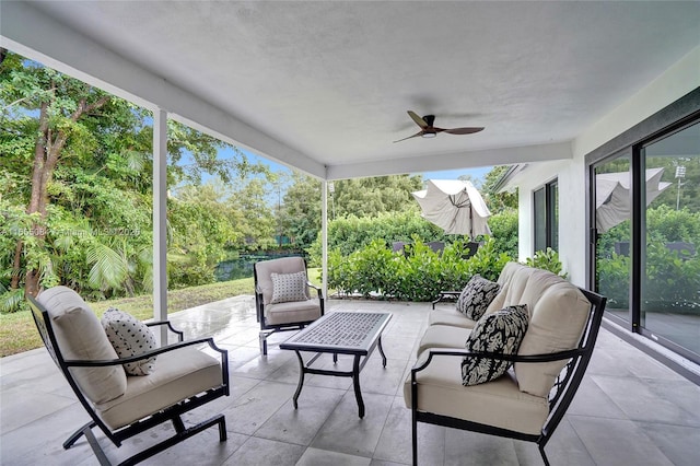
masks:
[[[219,349],[211,338],[183,341],[183,333],[175,330],[170,322],[143,324],[133,319],[141,326],[165,325],[177,335],[178,341],[148,349],[142,336],[150,330],[140,327],[131,341],[126,334],[132,333],[122,333],[117,337],[120,345],[115,347],[103,328],[104,318],[101,324],[73,290],[55,287],[39,293],[37,299],[27,296],[27,300],[46,349],[91,418],[63,442],[65,448],[85,435],[100,464],[108,465],[112,463],[93,428],[100,428],[119,447],[125,440],[168,421],[175,429],[172,436],[120,464],[142,462],[213,426],[219,427],[219,440],[226,440],[225,418],[221,413],[190,427],[182,419],[194,408],[229,396],[228,352]],[[128,314],[116,314],[121,321],[110,330],[119,334],[124,328],[132,328],[133,322],[125,317]],[[220,358],[198,349],[207,345]],[[117,356],[124,354],[129,346],[135,348],[133,356]],[[144,348],[138,349],[139,346]],[[128,375],[129,371],[145,375]]]

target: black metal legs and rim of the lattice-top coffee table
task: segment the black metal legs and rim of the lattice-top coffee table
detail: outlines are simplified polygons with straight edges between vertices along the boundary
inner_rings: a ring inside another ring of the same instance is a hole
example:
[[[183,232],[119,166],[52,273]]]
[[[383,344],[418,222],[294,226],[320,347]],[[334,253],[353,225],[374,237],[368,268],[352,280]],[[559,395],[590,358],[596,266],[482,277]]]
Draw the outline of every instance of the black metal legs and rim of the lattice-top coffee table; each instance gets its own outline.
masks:
[[[337,313],[332,313],[337,314]],[[323,325],[324,322],[332,314],[326,314],[324,317],[320,317],[314,324],[310,325],[305,329],[301,330],[294,337],[290,338],[293,340],[299,336],[303,335],[302,333],[307,333],[314,327]],[[386,356],[384,354],[384,348],[382,348],[382,331],[392,319],[390,313],[347,313],[347,314],[382,314],[385,315],[386,318],[381,323],[380,327],[375,329],[375,335],[373,336],[370,345],[366,348],[351,348],[351,347],[337,347],[331,345],[310,345],[310,343],[295,343],[290,340],[280,343],[281,349],[291,349],[296,353],[296,359],[299,361],[299,384],[296,385],[296,392],[294,393],[294,397],[292,398],[292,403],[294,405],[294,409],[299,408],[299,396],[302,393],[302,387],[304,386],[304,375],[305,374],[317,374],[317,375],[332,375],[335,377],[352,377],[352,385],[354,388],[354,397],[358,401],[358,409],[360,418],[364,418],[364,401],[362,399],[362,393],[360,391],[360,372],[366,364],[368,359],[372,354],[375,348],[380,349],[380,354],[382,356],[382,365],[386,368]],[[315,352],[306,363],[304,363],[304,359],[302,358],[301,351],[311,351]],[[338,362],[338,354],[350,354],[354,357],[352,362],[352,371],[337,371],[330,369],[314,369],[311,365],[323,354],[323,353],[332,353],[332,362],[334,364]]]

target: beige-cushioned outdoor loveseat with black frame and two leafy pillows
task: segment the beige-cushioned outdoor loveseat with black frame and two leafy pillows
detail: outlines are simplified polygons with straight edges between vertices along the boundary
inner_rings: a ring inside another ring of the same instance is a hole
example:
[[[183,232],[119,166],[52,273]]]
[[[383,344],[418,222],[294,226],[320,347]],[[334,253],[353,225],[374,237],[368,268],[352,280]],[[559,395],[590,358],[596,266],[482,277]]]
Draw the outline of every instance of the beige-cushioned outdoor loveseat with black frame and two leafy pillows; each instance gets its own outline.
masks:
[[[418,422],[536,442],[549,464],[545,445],[583,378],[606,299],[517,263],[504,267],[494,288],[498,294],[489,296],[479,319],[445,306],[431,311],[404,385],[412,412],[413,464]],[[487,294],[482,291],[477,294]],[[489,335],[485,329],[492,323]],[[511,328],[520,328],[522,340],[508,354],[503,348],[515,333]],[[493,374],[501,361],[500,369],[508,371]],[[491,375],[497,376],[488,380]]]

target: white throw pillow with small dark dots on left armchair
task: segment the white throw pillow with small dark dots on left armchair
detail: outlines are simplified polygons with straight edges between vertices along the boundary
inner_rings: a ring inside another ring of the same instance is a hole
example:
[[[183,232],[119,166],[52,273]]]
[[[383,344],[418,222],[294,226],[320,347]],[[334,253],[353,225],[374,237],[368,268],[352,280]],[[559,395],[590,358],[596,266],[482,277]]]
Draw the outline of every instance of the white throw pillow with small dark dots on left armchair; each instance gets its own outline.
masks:
[[[145,324],[116,307],[109,307],[104,313],[102,326],[119,358],[142,354],[158,347],[155,336]],[[148,375],[153,372],[155,358],[128,362],[124,364],[124,370],[129,375]]]

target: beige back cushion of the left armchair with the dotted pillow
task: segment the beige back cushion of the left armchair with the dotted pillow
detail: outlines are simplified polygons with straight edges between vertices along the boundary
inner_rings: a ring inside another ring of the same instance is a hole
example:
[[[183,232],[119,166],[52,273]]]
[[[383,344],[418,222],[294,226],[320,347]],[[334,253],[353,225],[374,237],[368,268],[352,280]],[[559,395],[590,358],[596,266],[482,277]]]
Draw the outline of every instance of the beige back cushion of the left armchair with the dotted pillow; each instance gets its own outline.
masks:
[[[100,319],[73,290],[67,287],[50,288],[42,292],[37,301],[48,312],[65,359],[118,359]],[[81,392],[93,403],[119,397],[127,387],[127,375],[121,365],[72,368],[70,372]]]

